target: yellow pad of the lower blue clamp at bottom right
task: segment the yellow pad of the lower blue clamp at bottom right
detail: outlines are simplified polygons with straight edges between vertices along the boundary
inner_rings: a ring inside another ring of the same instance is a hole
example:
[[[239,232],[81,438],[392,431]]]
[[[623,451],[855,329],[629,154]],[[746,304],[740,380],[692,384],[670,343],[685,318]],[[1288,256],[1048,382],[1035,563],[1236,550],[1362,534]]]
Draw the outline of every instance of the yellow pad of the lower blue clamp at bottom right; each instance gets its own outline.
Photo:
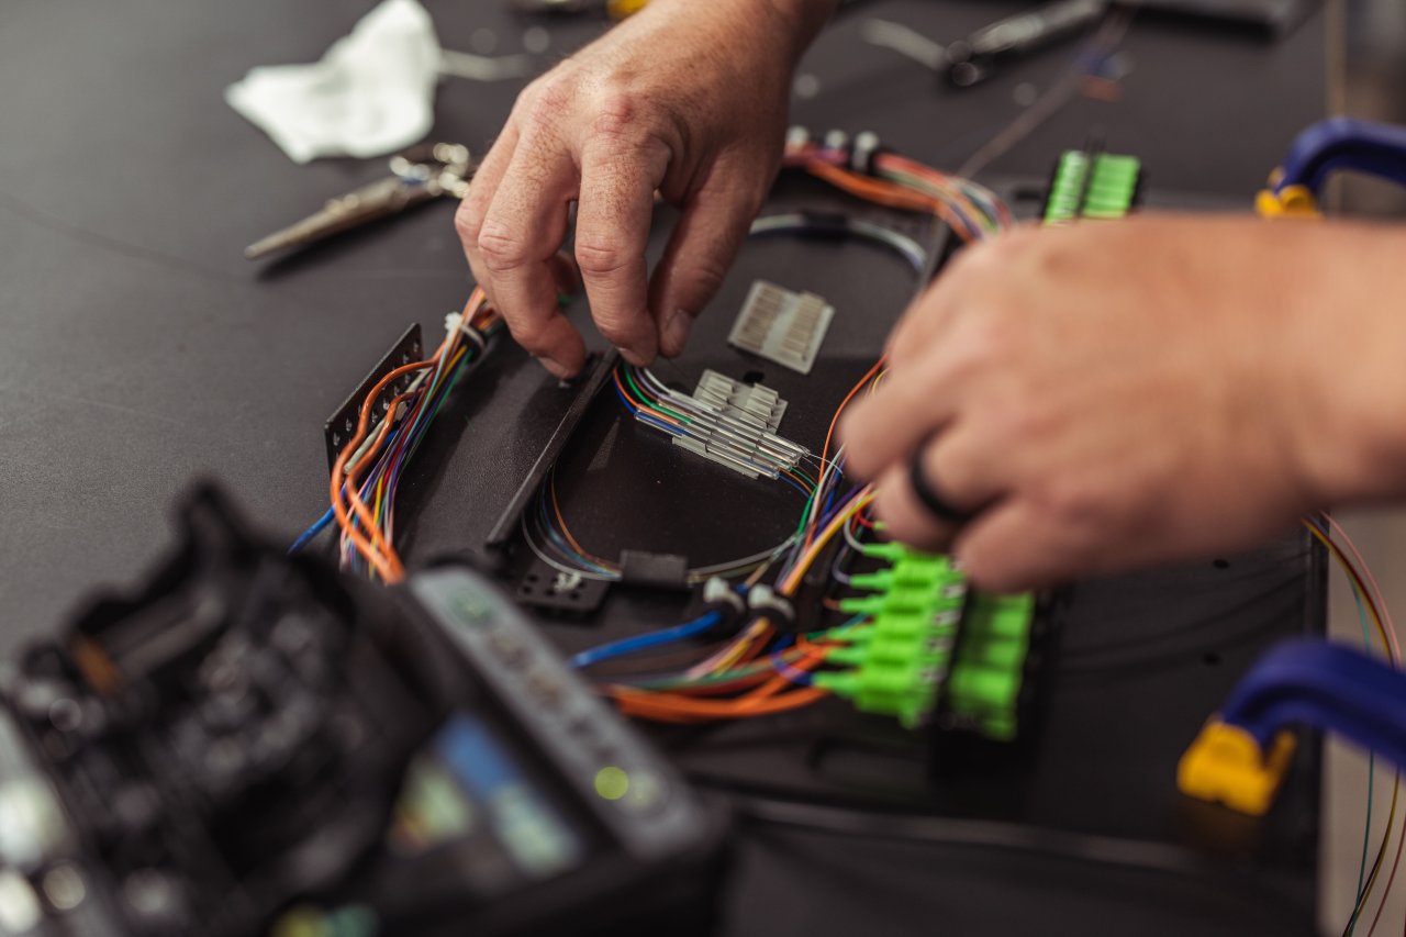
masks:
[[[1289,770],[1295,744],[1289,732],[1279,732],[1270,751],[1260,751],[1249,732],[1212,716],[1177,764],[1177,789],[1237,813],[1264,816]]]

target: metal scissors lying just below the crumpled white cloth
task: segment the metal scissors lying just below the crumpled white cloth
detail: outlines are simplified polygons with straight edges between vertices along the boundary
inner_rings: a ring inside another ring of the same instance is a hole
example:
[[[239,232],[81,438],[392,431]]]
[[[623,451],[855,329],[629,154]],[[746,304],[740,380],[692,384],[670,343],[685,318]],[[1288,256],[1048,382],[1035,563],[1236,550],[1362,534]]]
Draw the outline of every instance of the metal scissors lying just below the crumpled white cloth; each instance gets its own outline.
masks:
[[[329,200],[302,221],[253,242],[245,256],[257,260],[274,250],[322,241],[433,198],[463,198],[474,169],[468,148],[460,144],[416,146],[391,158],[388,177]]]

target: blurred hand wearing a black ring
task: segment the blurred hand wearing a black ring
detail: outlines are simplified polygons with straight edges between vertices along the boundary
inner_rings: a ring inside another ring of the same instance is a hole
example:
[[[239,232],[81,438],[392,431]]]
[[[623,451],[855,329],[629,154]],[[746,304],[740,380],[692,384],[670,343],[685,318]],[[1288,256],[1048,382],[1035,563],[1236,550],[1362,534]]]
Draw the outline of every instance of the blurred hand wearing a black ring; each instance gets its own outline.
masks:
[[[889,532],[993,589],[1249,547],[1406,490],[1403,236],[1146,217],[970,248],[851,408]],[[910,483],[970,512],[936,521]]]

